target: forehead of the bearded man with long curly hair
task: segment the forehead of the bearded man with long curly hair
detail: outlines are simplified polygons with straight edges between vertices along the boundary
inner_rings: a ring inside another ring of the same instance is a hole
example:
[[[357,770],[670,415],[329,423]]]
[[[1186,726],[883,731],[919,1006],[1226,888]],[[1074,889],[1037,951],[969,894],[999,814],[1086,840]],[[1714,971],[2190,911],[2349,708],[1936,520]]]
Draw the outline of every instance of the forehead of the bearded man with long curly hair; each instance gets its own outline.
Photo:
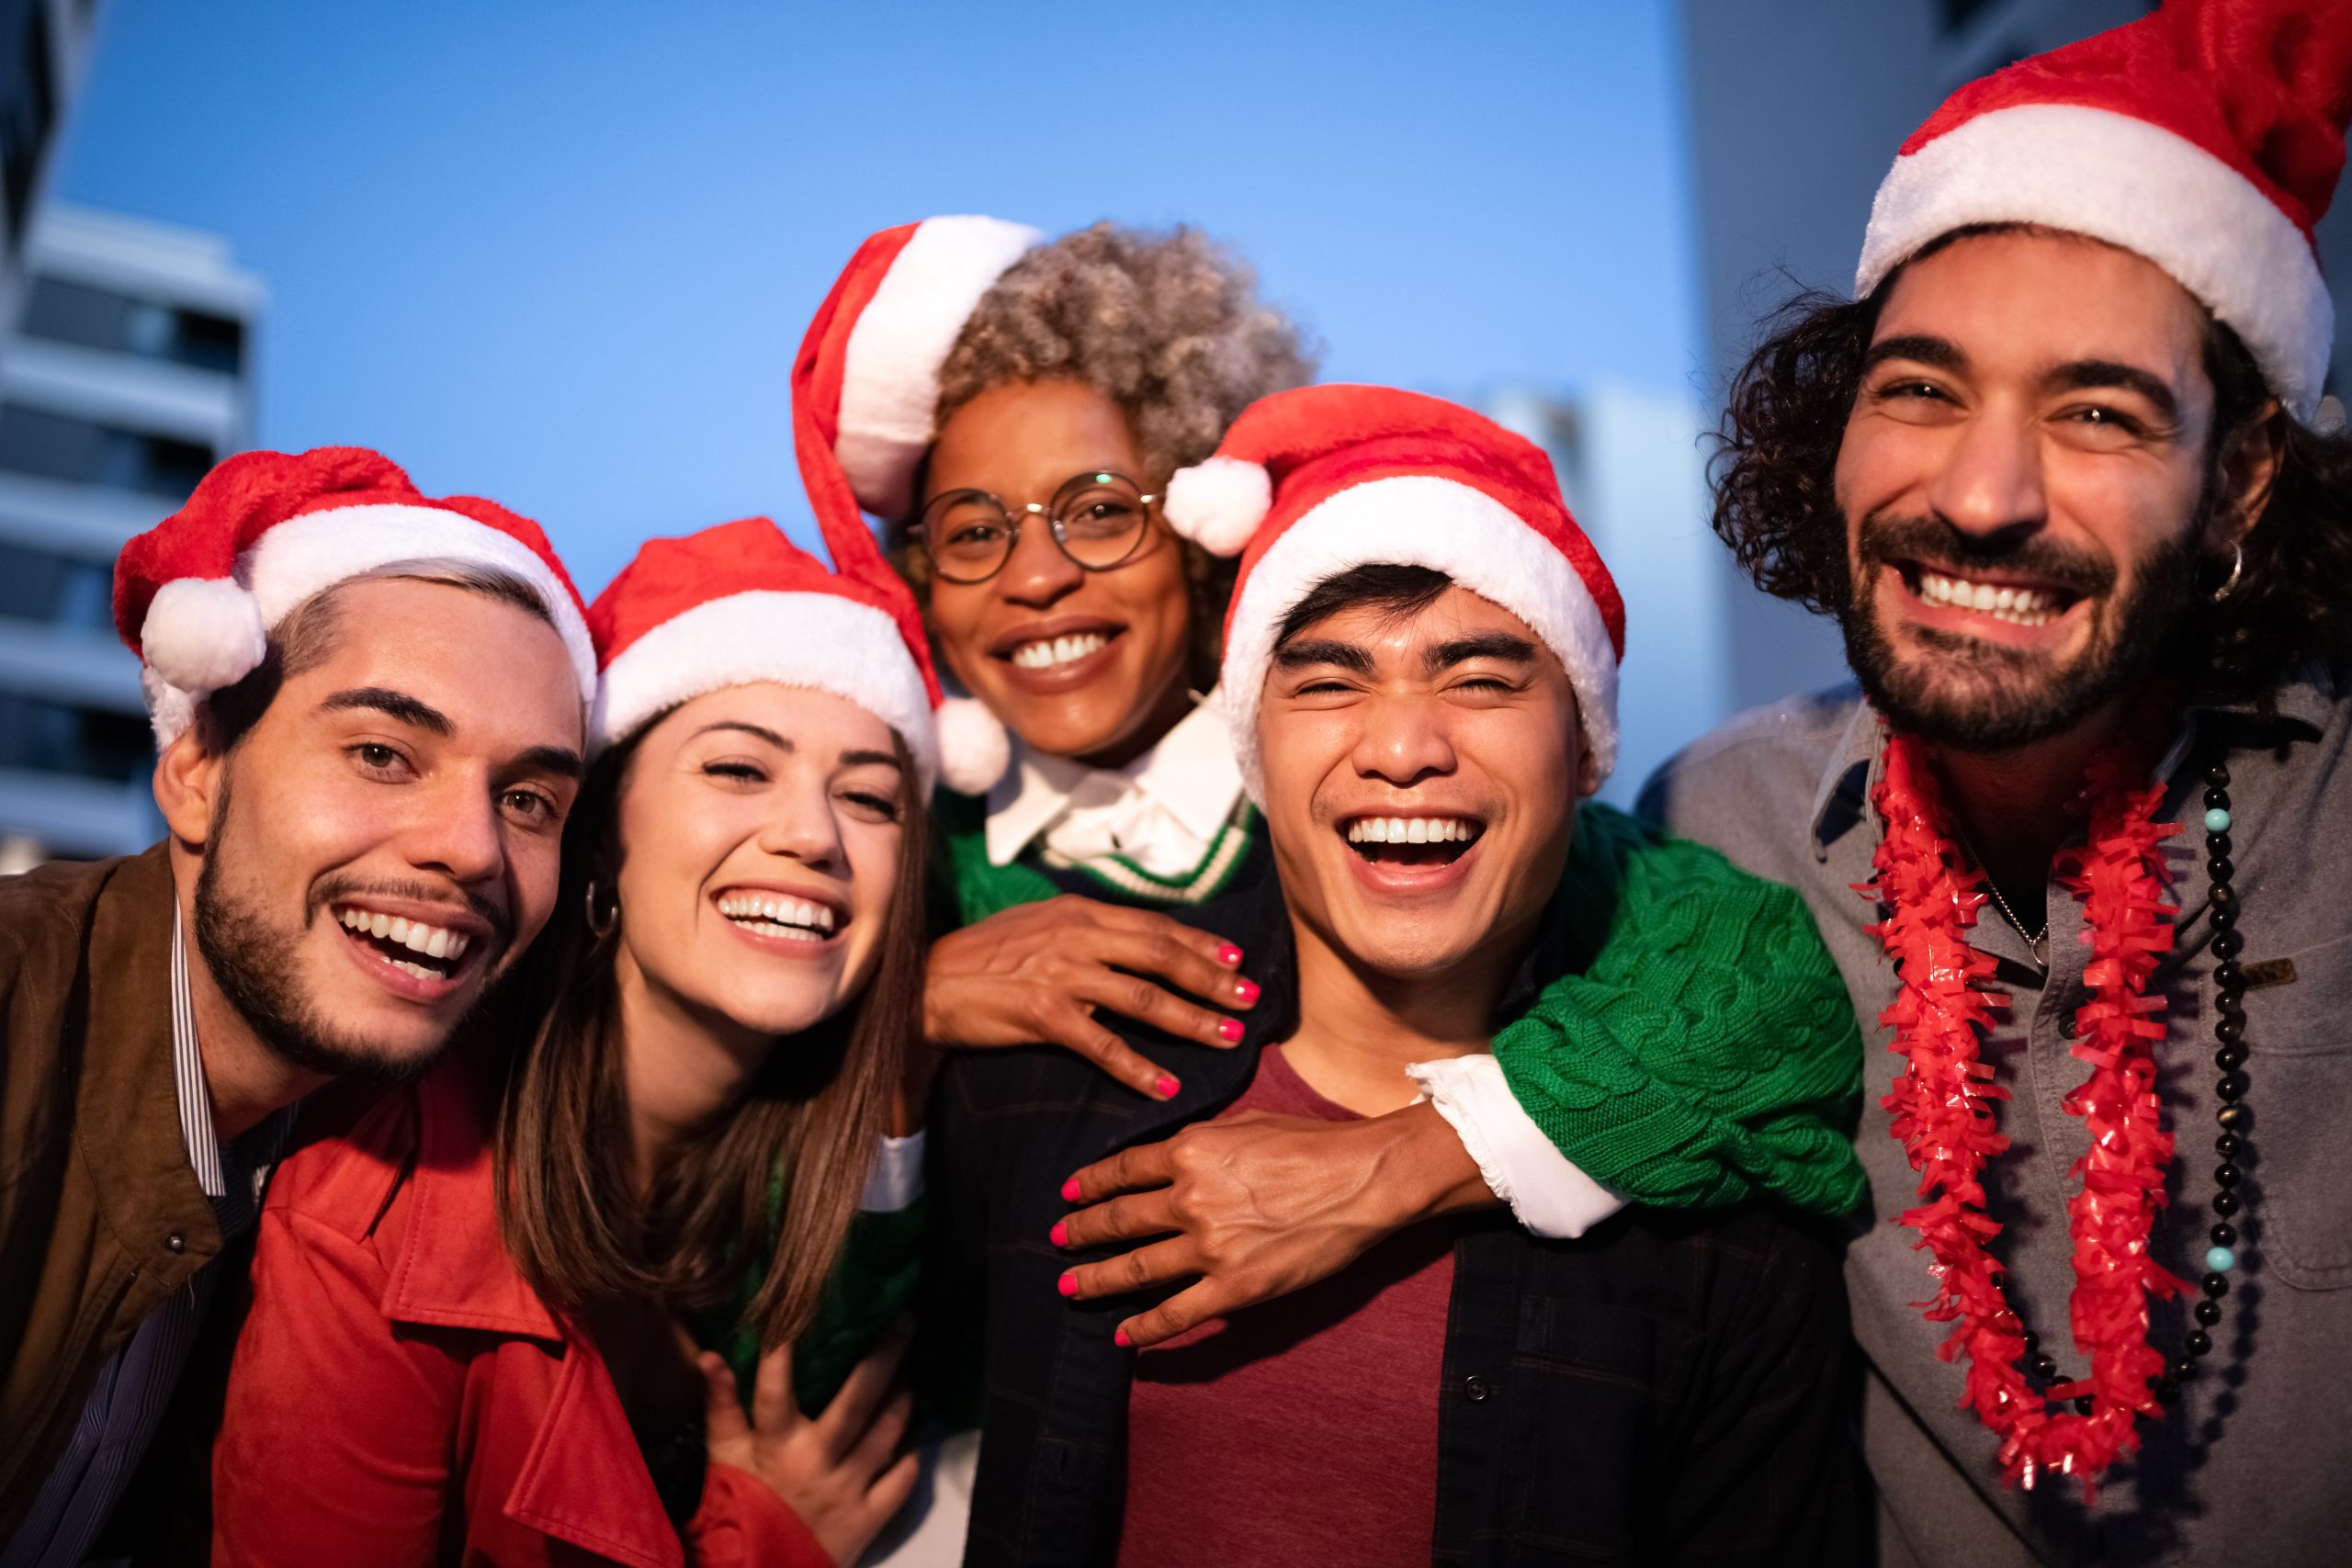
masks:
[[[2136,252],[2002,230],[1903,268],[1872,339],[1943,339],[1980,371],[2112,360],[2180,381],[2201,376],[2204,322],[2197,299]]]

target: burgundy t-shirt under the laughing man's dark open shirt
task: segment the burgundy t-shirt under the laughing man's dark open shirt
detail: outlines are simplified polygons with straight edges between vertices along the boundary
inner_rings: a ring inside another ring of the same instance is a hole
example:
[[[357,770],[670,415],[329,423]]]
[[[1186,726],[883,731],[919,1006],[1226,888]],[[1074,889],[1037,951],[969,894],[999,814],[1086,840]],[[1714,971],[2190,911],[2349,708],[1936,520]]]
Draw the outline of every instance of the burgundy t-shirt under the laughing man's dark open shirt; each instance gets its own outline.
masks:
[[[1268,1046],[1242,1110],[1357,1121]],[[1456,1225],[1136,1356],[1120,1568],[1428,1563]]]

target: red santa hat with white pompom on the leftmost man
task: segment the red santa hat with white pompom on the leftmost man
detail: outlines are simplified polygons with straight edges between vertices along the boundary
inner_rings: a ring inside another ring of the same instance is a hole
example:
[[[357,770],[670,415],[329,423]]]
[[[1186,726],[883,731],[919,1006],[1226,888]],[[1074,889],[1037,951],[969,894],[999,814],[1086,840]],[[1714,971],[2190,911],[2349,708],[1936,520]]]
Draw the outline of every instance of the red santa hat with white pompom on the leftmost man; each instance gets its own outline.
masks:
[[[595,693],[586,607],[536,522],[477,496],[426,498],[365,447],[245,451],[115,559],[115,630],[139,654],[155,738],[169,745],[198,701],[252,675],[303,599],[405,562],[529,583],[572,654],[581,701]]]

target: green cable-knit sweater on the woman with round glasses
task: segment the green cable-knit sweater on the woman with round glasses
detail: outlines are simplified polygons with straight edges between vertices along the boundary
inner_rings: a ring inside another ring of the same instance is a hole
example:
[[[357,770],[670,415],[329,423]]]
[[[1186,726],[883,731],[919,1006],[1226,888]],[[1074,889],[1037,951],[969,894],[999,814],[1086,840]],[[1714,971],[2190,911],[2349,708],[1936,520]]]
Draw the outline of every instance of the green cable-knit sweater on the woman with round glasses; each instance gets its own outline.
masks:
[[[1061,891],[1028,853],[988,863],[976,802],[941,792],[934,830],[967,922]],[[1661,1208],[1860,1204],[1863,1041],[1804,898],[1585,804],[1559,912],[1583,966],[1510,1020],[1494,1056],[1562,1154]]]

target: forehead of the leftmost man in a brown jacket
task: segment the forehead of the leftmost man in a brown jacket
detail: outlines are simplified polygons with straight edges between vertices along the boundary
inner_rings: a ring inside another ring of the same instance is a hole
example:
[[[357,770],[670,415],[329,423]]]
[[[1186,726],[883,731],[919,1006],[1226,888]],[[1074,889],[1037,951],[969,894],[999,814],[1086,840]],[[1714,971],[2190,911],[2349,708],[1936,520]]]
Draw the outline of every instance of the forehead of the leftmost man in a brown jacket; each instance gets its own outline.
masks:
[[[576,750],[586,733],[564,639],[541,616],[473,588],[343,583],[325,651],[287,682],[287,693],[315,703],[355,686],[407,693],[459,731],[489,726],[517,745]]]

